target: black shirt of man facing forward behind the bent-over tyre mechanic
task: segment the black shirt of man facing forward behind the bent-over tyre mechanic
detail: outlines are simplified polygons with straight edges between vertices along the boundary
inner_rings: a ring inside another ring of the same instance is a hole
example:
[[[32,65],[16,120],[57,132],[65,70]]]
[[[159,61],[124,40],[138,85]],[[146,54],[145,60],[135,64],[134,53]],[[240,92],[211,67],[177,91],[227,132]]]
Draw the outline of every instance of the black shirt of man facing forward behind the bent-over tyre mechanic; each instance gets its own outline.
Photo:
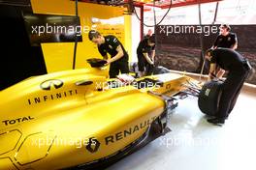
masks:
[[[235,33],[229,33],[227,36],[218,35],[214,46],[231,48],[236,42],[238,42],[237,35]]]

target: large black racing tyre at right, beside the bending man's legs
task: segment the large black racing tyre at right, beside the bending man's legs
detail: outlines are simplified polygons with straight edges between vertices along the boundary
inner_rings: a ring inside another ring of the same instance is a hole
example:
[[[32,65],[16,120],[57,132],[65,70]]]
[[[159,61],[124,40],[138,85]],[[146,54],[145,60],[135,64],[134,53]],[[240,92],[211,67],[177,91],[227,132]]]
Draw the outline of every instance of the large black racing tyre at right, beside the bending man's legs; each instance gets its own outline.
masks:
[[[218,110],[219,99],[222,94],[222,81],[208,81],[204,84],[198,97],[198,106],[200,110],[214,116]]]

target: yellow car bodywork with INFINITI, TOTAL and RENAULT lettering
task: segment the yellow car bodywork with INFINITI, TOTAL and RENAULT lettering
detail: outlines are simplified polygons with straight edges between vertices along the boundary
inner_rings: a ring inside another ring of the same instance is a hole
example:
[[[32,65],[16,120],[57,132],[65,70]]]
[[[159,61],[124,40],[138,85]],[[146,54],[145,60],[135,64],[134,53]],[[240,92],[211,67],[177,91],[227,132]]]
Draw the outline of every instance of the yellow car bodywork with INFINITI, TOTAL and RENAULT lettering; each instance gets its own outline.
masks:
[[[0,169],[62,169],[112,156],[139,139],[189,77],[152,75],[159,86],[108,88],[106,71],[60,71],[0,92]],[[80,82],[85,82],[80,85]]]

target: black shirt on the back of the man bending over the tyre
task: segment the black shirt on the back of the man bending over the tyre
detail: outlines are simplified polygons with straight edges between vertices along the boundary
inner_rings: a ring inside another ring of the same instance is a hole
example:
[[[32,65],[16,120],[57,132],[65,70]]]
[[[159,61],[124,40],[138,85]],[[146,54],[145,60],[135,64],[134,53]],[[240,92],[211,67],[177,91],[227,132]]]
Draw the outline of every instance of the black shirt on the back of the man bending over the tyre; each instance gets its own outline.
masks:
[[[237,51],[229,48],[216,48],[212,51],[210,63],[225,71],[243,71],[245,59]]]

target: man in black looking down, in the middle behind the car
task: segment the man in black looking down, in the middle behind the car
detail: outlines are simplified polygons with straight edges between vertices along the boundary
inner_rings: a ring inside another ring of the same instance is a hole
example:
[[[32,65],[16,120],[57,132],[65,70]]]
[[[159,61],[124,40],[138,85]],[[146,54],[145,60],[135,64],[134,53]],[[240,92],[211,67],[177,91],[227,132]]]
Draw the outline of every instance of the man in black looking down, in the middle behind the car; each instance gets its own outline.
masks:
[[[140,76],[150,75],[154,67],[155,36],[144,38],[137,47]]]

